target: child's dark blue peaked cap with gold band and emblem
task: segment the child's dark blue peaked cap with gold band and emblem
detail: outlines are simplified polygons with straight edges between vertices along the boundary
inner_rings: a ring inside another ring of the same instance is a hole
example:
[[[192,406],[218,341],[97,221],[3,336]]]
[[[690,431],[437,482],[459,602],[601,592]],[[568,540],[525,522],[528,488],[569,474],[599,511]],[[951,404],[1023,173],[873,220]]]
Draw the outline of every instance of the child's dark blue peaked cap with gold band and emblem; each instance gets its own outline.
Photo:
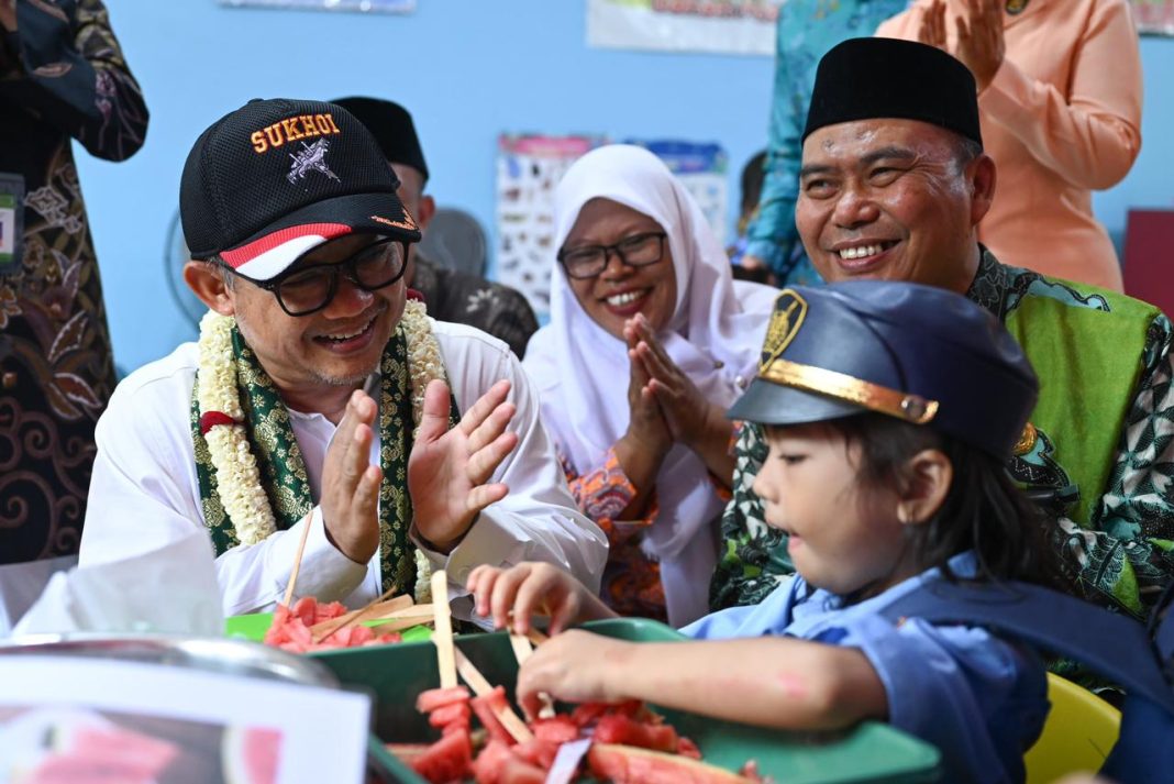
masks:
[[[758,376],[729,417],[801,425],[875,411],[1007,459],[1038,397],[986,310],[944,289],[850,281],[778,295]]]

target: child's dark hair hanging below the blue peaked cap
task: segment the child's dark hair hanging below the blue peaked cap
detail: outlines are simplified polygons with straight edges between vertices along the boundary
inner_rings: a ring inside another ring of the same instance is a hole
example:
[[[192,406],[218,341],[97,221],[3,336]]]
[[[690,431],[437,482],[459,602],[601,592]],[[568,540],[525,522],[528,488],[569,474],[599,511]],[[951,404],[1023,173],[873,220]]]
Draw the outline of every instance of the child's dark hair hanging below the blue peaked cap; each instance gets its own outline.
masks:
[[[824,423],[859,445],[859,478],[865,487],[905,487],[906,466],[923,450],[939,450],[953,466],[953,481],[937,513],[912,527],[915,562],[939,567],[957,581],[951,556],[974,550],[980,580],[1058,582],[1055,556],[1047,546],[1044,512],[1016,486],[1004,462],[958,439],[925,426],[878,413]]]

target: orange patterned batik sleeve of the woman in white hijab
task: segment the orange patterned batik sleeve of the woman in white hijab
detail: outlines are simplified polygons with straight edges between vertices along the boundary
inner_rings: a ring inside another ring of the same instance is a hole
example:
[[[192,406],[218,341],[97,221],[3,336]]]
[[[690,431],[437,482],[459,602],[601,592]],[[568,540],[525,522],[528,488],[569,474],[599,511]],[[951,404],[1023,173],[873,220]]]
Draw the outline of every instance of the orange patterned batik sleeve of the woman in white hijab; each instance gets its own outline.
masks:
[[[660,565],[640,547],[642,532],[660,513],[655,491],[642,516],[619,520],[639,491],[623,472],[615,450],[608,450],[602,466],[581,475],[565,457],[560,455],[560,460],[579,508],[607,535],[600,596],[620,615],[667,621]]]

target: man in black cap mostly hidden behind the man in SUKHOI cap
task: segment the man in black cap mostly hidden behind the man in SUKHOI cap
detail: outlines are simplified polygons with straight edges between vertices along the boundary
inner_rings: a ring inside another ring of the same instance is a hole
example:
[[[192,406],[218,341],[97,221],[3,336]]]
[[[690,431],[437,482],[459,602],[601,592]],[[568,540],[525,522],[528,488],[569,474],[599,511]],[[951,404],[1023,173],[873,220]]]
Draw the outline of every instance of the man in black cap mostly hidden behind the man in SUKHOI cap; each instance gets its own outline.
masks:
[[[384,157],[399,178],[399,201],[416,217],[420,234],[426,232],[436,214],[436,202],[424,192],[429,167],[412,115],[398,103],[372,97],[344,97],[333,103],[355,115],[379,142]],[[538,331],[534,311],[520,292],[439,266],[424,258],[419,248],[411,251],[404,282],[424,296],[433,318],[485,330],[510,344],[519,358],[525,356],[529,337]]]

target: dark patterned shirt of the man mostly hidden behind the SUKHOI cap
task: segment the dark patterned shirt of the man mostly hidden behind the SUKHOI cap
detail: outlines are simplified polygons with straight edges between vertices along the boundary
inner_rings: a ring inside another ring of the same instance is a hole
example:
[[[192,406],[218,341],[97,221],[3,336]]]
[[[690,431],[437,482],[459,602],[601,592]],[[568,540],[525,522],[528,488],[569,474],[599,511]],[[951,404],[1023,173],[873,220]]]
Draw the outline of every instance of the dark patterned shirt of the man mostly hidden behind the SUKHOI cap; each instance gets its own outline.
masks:
[[[434,264],[412,251],[412,288],[424,295],[429,315],[440,322],[468,324],[505,340],[521,359],[529,336],[538,331],[534,310],[520,292],[475,275]]]

